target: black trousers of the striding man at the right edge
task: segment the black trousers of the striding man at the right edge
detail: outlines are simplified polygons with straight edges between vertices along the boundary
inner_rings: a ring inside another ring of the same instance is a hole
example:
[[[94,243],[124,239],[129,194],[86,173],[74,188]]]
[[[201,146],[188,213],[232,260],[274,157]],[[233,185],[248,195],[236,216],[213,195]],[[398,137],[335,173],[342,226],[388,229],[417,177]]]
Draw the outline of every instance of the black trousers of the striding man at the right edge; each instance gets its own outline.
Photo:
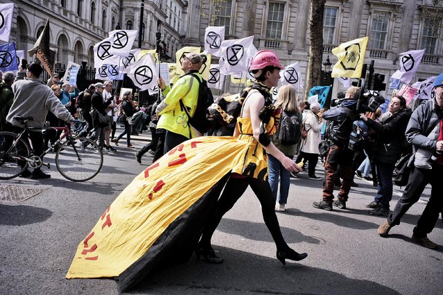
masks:
[[[443,166],[434,165],[432,169],[413,168],[410,172],[408,184],[403,195],[397,202],[394,211],[388,217],[391,225],[400,224],[401,217],[415,204],[423,193],[427,184],[431,184],[431,197],[420,216],[417,226],[414,228],[414,235],[424,238],[434,229],[439,213],[443,207]]]

